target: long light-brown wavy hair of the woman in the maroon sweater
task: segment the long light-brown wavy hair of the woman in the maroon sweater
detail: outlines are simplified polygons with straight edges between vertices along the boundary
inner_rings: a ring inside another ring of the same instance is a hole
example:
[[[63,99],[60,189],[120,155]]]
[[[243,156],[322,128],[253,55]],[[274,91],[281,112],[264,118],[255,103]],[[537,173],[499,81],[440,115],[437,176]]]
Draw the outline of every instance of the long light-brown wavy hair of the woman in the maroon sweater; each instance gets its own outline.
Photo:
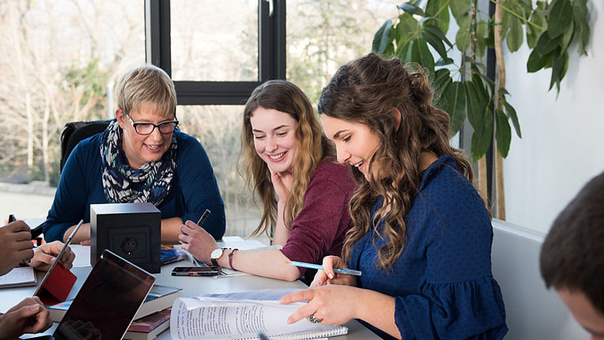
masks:
[[[314,170],[322,160],[334,156],[334,148],[325,138],[319,118],[300,88],[288,81],[275,80],[262,83],[252,92],[245,103],[243,113],[241,150],[244,157],[242,168],[245,169],[247,185],[252,185],[253,192],[260,197],[264,206],[262,219],[256,230],[252,232],[252,236],[264,232],[270,237],[270,227],[277,221],[277,197],[272,187],[270,170],[265,161],[256,153],[250,123],[250,118],[260,107],[287,113],[298,122],[295,130],[298,152],[292,169],[294,182],[290,196],[287,197],[285,203],[285,211],[289,212],[290,216],[288,220],[285,220],[288,228],[291,229],[292,221],[304,207],[304,195]]]

